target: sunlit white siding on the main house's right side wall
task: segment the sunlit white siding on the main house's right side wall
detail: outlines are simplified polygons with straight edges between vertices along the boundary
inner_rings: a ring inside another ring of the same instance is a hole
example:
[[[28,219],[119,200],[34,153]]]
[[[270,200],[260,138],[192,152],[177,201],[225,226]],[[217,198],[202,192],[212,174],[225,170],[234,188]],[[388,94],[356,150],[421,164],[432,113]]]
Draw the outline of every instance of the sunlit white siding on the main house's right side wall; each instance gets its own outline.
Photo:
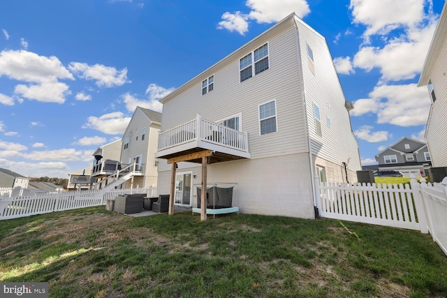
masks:
[[[304,81],[310,150],[314,156],[319,156],[325,161],[337,165],[342,165],[344,162],[348,164],[349,170],[361,170],[358,142],[352,133],[349,112],[344,106],[346,99],[326,40],[300,20],[297,20],[296,24],[298,27],[296,38],[302,61],[300,70]],[[308,46],[312,50],[314,61],[309,57]],[[312,62],[314,71],[309,68],[309,61]],[[329,126],[322,125],[321,137],[316,133],[314,103],[319,107],[321,119],[330,117],[330,132]],[[281,120],[281,117],[279,119]]]

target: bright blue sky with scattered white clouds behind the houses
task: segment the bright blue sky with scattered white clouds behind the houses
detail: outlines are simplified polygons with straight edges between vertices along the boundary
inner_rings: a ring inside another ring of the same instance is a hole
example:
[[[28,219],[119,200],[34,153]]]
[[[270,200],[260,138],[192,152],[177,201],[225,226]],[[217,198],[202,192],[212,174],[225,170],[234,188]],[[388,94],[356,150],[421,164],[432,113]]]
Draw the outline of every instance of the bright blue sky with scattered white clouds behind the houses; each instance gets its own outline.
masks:
[[[362,164],[423,140],[416,83],[442,0],[14,0],[0,4],[0,167],[68,178],[158,100],[293,11],[325,36]]]

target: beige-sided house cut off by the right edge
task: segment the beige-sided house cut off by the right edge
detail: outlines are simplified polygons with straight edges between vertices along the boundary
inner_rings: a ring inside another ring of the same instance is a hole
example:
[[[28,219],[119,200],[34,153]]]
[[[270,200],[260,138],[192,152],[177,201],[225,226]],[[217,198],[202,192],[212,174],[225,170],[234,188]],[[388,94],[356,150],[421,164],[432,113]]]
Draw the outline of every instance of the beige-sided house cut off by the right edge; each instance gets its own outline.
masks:
[[[434,31],[418,87],[427,86],[432,105],[425,140],[433,167],[447,167],[447,4]]]

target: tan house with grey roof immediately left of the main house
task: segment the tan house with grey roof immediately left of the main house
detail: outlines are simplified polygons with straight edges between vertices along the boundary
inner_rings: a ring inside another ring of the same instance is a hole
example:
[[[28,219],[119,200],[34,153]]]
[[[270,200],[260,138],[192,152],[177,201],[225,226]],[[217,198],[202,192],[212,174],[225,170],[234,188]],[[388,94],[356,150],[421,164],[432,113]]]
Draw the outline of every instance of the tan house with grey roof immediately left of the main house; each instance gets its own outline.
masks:
[[[157,148],[161,126],[161,113],[136,107],[131,121],[122,137],[122,149],[119,161],[122,165],[136,163],[135,173],[124,182],[123,188],[156,186],[157,163],[154,154]]]

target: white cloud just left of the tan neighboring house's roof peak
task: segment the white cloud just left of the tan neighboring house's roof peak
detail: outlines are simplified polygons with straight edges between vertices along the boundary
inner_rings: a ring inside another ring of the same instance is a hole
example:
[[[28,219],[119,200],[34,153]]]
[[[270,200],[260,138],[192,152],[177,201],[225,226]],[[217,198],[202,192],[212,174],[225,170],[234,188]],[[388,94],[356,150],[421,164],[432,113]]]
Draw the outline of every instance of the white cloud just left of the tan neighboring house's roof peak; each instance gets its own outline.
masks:
[[[122,135],[131,121],[131,117],[123,117],[122,112],[103,114],[101,117],[90,116],[88,123],[82,128],[92,128],[108,135]]]

